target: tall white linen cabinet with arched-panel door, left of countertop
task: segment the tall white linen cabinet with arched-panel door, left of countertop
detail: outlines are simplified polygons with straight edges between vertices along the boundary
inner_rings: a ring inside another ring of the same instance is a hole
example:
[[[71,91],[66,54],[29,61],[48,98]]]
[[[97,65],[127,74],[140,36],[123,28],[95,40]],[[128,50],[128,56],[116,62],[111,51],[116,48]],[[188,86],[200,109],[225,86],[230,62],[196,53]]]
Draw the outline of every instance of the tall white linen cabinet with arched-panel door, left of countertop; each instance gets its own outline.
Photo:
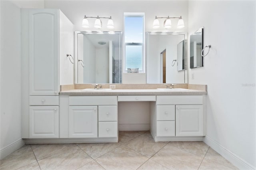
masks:
[[[58,9],[21,13],[22,138],[59,138],[60,85],[74,83],[74,25]]]

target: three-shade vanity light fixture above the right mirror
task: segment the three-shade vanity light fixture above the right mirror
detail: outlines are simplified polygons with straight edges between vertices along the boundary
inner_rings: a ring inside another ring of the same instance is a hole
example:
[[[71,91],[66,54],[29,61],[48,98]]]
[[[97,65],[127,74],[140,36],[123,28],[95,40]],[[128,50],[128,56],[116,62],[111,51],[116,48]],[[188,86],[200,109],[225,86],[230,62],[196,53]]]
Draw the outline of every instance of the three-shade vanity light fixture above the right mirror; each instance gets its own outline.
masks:
[[[157,17],[155,18],[154,22],[153,22],[153,28],[160,28],[160,24],[159,24],[159,18],[166,18],[166,20],[164,20],[164,28],[165,29],[170,29],[172,28],[172,21],[170,20],[170,18],[177,18],[179,19],[178,24],[177,24],[177,28],[184,28],[184,21],[182,19],[182,17]]]

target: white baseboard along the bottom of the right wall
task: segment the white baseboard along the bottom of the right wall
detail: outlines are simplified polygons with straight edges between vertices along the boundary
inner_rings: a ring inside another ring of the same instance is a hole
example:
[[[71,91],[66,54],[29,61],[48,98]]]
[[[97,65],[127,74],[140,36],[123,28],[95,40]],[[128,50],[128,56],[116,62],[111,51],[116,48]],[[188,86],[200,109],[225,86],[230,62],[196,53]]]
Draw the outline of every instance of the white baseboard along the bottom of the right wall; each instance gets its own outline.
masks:
[[[212,140],[210,137],[205,136],[203,140],[208,146],[210,146],[213,150],[218,152],[221,156],[226,158],[229,162],[234,164],[237,168],[241,170],[255,170],[255,167],[252,166],[250,163],[246,162],[227,148],[221,146],[218,142],[215,140]]]

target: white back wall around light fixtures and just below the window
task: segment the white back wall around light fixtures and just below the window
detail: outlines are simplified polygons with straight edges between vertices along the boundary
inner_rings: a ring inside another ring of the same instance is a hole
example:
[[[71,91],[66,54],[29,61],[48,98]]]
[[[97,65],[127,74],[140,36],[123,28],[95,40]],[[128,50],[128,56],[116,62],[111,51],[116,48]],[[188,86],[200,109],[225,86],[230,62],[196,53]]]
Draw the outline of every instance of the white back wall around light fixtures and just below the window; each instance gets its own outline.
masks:
[[[172,20],[172,28],[169,31],[187,32],[188,31],[188,1],[145,1],[145,0],[47,0],[44,1],[45,8],[59,8],[74,24],[75,31],[84,31],[82,28],[82,19],[84,15],[110,17],[114,21],[114,31],[123,31],[124,12],[144,12],[145,13],[145,30],[155,31],[152,28],[155,16],[158,17],[179,17],[182,16],[185,28],[177,29],[178,19]],[[96,10],[97,9],[97,10]],[[157,10],[157,11],[156,11]],[[88,19],[90,29],[97,31],[93,27],[94,19]],[[108,20],[102,19],[102,30],[106,28]],[[163,28],[164,19],[160,19],[161,28],[158,31],[166,31]],[[123,83],[146,83],[146,74],[123,74]]]

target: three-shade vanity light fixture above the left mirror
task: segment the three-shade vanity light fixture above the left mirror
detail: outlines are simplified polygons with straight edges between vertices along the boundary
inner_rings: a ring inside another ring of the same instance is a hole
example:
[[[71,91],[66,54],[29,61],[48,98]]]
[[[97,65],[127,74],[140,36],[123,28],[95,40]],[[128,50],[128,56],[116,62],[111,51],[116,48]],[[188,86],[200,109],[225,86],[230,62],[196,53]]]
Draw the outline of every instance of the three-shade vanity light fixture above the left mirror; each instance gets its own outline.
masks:
[[[107,24],[107,28],[109,29],[113,29],[114,28],[114,22],[112,20],[112,17],[93,17],[93,16],[84,16],[83,22],[82,22],[82,27],[84,28],[89,28],[89,22],[87,18],[96,18],[95,22],[94,22],[94,28],[100,29],[102,28],[102,22],[100,20],[100,18],[107,18],[108,19],[108,24]]]

